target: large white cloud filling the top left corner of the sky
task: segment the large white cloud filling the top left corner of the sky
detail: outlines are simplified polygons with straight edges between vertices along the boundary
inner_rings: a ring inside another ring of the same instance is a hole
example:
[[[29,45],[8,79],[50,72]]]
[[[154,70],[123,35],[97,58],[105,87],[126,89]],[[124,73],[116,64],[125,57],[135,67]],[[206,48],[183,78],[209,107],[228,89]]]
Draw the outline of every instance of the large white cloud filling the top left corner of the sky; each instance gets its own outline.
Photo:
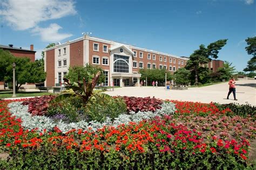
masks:
[[[71,0],[5,0],[0,15],[15,30],[27,30],[38,23],[76,14]]]

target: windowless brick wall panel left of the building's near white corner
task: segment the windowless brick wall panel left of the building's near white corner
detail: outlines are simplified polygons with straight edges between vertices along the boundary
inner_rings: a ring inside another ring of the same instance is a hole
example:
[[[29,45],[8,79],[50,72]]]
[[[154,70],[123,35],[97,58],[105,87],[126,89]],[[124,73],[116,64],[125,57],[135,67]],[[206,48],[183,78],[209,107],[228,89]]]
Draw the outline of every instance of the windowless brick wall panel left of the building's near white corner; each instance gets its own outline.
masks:
[[[70,67],[83,66],[84,42],[77,41],[70,44]]]

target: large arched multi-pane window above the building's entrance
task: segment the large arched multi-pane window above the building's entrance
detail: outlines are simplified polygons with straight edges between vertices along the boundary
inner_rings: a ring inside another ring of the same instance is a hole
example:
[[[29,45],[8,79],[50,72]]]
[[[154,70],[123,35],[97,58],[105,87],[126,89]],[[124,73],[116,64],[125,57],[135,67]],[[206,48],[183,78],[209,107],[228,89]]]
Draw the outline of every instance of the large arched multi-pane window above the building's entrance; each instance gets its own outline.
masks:
[[[129,73],[129,56],[114,54],[114,72]]]

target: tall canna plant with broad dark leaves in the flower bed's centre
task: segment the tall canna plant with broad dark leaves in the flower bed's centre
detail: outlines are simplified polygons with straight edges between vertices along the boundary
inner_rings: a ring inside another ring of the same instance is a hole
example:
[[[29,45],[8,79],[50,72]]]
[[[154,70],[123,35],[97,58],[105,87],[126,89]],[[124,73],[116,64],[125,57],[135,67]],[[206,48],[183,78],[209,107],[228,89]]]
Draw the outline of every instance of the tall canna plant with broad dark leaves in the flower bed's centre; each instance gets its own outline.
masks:
[[[107,95],[107,94],[103,94],[100,93],[102,91],[100,90],[95,90],[93,91],[93,89],[95,88],[97,81],[99,80],[99,76],[100,76],[100,71],[97,72],[97,74],[94,76],[93,74],[87,73],[89,75],[89,81],[86,82],[85,78],[83,77],[83,82],[79,81],[79,74],[78,74],[78,81],[77,82],[70,82],[69,79],[66,79],[65,77],[63,78],[64,83],[67,85],[65,88],[66,90],[64,91],[64,93],[58,95],[55,100],[52,100],[52,102],[60,102],[65,100],[65,98],[68,97],[80,97],[83,101],[83,105],[86,105],[87,103],[95,103],[96,102],[96,96],[105,98],[106,100],[112,100],[112,97]]]

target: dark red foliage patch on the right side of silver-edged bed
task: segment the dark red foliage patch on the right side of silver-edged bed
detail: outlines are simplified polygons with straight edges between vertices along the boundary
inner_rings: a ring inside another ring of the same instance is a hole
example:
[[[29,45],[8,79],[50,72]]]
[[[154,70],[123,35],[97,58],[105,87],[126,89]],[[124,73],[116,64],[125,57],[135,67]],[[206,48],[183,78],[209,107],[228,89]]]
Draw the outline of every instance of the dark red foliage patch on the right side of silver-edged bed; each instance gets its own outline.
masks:
[[[156,111],[157,109],[161,109],[160,100],[156,98],[150,98],[150,97],[128,97],[124,96],[122,97],[126,103],[127,110],[130,111]]]

